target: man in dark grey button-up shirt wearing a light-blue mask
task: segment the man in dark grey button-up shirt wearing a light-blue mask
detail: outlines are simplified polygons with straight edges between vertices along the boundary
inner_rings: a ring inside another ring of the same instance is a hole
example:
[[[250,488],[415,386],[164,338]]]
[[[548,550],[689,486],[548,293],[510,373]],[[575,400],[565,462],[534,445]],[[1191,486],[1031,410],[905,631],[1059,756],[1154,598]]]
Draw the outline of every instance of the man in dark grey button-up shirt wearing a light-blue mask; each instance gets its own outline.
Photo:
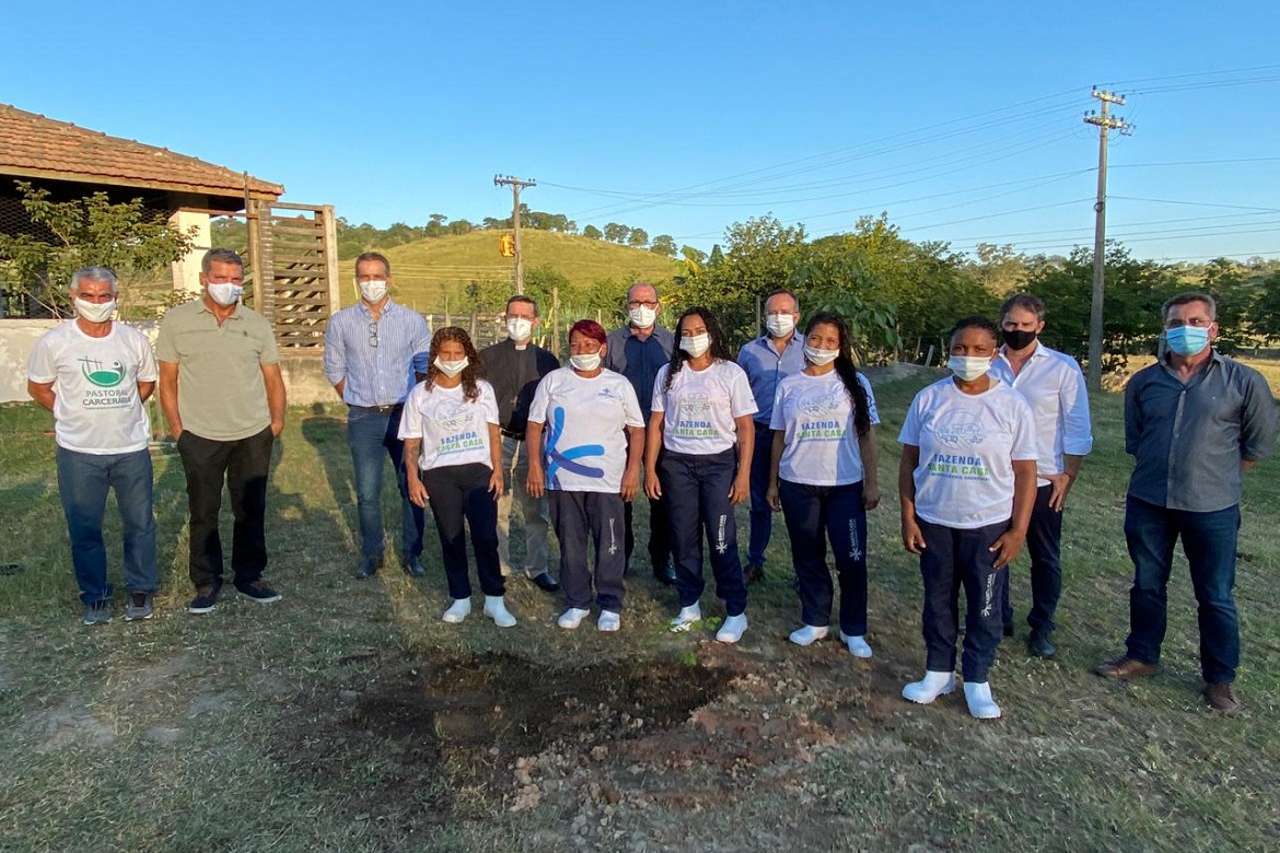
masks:
[[[1181,537],[1199,604],[1204,696],[1213,708],[1234,714],[1240,480],[1271,453],[1276,403],[1261,373],[1211,347],[1217,336],[1211,297],[1176,295],[1164,317],[1167,354],[1125,389],[1125,450],[1135,459],[1125,508],[1134,564],[1128,648],[1097,671],[1110,678],[1156,671],[1174,544]]]

